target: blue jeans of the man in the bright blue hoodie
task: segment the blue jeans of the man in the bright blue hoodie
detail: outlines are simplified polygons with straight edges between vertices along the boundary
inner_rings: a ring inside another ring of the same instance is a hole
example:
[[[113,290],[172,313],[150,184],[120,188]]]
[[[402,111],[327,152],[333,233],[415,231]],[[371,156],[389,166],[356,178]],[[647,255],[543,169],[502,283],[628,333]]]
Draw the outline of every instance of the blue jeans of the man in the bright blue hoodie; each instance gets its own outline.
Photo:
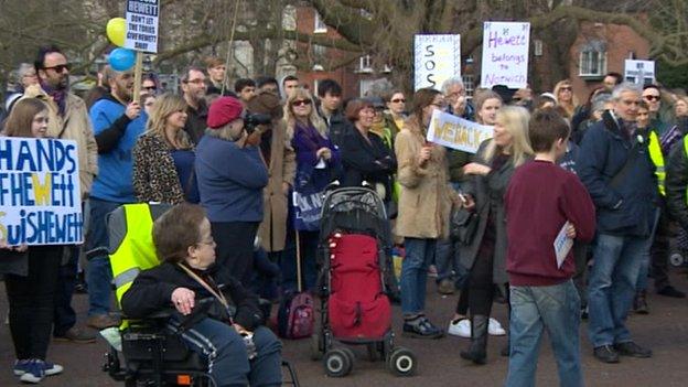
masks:
[[[86,209],[90,214],[88,235],[86,235],[86,251],[105,247],[109,249],[109,238],[105,217],[117,209],[121,203],[101,201],[90,197]],[[86,267],[86,283],[88,283],[88,315],[107,314],[110,311],[112,295],[112,268],[107,255],[94,257]]]

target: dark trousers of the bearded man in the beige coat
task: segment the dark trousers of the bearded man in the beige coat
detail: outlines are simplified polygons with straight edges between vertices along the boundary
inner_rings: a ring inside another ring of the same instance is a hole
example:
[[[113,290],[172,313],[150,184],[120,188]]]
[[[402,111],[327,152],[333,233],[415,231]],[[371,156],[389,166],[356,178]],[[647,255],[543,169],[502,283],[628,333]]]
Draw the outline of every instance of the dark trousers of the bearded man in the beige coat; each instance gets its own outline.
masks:
[[[60,279],[55,289],[54,336],[64,336],[76,324],[76,312],[72,308],[72,295],[74,295],[74,286],[76,284],[79,247],[69,246],[67,249],[69,259],[60,267]]]

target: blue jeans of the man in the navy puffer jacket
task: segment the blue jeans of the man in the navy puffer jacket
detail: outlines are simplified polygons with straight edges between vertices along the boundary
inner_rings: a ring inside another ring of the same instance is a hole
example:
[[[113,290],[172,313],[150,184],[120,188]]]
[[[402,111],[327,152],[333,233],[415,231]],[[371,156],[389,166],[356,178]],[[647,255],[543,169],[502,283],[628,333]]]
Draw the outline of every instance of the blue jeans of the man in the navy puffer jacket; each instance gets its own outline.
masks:
[[[594,347],[631,341],[626,316],[648,239],[598,235],[588,284],[588,334]]]

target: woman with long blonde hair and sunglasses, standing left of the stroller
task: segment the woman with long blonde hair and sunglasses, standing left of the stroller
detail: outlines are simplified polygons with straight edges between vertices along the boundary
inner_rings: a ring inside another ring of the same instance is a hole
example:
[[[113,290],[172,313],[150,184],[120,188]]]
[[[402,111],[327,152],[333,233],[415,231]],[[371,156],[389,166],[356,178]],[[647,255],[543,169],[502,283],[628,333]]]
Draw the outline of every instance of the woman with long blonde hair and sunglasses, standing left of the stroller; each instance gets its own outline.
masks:
[[[320,228],[319,196],[327,184],[340,176],[340,151],[327,138],[327,127],[318,115],[313,97],[308,90],[298,88],[289,96],[284,105],[284,120],[288,141],[297,155],[293,200],[290,201],[293,224],[290,226],[293,226],[299,236],[297,239],[294,233],[289,233],[288,245],[299,241],[304,288],[312,289],[318,277],[315,255]],[[283,258],[282,275],[291,286],[295,278],[295,268],[292,265],[295,260],[287,256]]]

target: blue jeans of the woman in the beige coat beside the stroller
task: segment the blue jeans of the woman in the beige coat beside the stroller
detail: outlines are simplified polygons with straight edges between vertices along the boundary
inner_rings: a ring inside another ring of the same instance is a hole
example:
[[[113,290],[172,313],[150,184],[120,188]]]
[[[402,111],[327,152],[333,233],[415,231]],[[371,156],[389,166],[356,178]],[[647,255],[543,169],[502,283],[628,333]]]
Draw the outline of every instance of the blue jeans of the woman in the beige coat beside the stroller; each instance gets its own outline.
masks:
[[[437,239],[404,238],[406,257],[401,264],[401,312],[422,313],[426,309],[428,266],[434,257]]]

